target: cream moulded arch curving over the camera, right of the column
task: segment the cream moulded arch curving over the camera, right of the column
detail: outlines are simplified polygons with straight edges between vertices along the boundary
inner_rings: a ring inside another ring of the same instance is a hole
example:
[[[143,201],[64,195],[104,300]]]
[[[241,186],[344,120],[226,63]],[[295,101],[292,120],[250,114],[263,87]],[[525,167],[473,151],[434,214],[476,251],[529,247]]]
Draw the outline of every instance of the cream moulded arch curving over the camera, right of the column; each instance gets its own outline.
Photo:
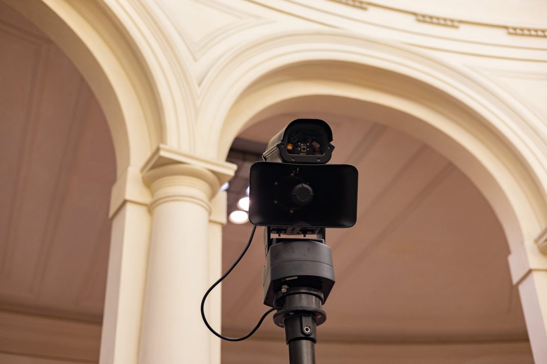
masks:
[[[494,207],[511,250],[527,250],[543,262],[534,239],[547,225],[545,128],[485,82],[408,47],[360,35],[277,34],[234,50],[208,76],[198,139],[212,134],[219,149],[210,157],[224,159],[255,115],[297,97],[337,96],[397,109],[416,123],[389,125],[458,165]]]

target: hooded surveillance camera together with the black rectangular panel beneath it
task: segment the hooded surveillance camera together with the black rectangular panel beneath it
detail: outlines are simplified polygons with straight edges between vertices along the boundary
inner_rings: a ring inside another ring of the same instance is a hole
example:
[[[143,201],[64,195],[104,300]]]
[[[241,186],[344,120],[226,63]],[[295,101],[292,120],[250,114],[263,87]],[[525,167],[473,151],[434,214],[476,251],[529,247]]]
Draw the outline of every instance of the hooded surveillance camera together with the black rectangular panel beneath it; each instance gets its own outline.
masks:
[[[356,223],[358,171],[352,165],[325,164],[332,140],[328,124],[317,119],[294,120],[270,140],[264,162],[251,166],[253,224],[298,235]]]

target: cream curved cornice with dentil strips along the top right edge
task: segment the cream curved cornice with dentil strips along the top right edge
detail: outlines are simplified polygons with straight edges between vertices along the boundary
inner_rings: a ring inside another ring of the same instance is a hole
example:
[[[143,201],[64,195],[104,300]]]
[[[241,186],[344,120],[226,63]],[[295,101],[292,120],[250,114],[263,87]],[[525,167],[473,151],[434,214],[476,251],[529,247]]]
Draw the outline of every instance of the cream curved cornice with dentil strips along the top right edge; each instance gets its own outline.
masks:
[[[359,3],[359,9],[354,0],[249,1],[317,25],[376,35],[424,49],[504,59],[547,59],[545,43],[537,39],[543,37],[544,26],[449,17],[369,1],[363,5]]]

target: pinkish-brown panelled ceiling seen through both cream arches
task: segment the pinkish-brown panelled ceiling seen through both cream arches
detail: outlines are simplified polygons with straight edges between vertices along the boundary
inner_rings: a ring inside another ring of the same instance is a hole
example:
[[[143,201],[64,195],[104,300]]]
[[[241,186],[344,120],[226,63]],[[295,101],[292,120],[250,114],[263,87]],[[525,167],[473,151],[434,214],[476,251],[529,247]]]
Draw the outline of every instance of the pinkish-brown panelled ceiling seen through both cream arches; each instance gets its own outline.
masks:
[[[107,124],[67,57],[1,2],[0,49],[0,362],[97,362],[115,178]],[[327,233],[336,284],[318,362],[532,362],[508,245],[484,197],[432,148],[378,123],[408,116],[313,108],[328,102],[284,105],[240,134],[264,144],[294,118],[323,118],[331,163],[359,170],[357,224]],[[252,161],[234,162],[232,201]],[[226,225],[224,267],[250,231]],[[265,311],[264,261],[258,233],[223,283],[225,335],[246,333]],[[223,343],[223,363],[283,362],[286,350],[267,319],[249,341]]]

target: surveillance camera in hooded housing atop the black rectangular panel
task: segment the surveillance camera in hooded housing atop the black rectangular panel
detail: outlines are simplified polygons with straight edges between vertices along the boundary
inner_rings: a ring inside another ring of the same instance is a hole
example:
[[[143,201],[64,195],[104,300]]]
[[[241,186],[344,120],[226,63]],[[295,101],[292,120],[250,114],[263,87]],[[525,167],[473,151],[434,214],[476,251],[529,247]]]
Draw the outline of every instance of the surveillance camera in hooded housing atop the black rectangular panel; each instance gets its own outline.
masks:
[[[296,119],[270,140],[262,157],[267,162],[324,164],[330,160],[333,132],[323,120]]]

